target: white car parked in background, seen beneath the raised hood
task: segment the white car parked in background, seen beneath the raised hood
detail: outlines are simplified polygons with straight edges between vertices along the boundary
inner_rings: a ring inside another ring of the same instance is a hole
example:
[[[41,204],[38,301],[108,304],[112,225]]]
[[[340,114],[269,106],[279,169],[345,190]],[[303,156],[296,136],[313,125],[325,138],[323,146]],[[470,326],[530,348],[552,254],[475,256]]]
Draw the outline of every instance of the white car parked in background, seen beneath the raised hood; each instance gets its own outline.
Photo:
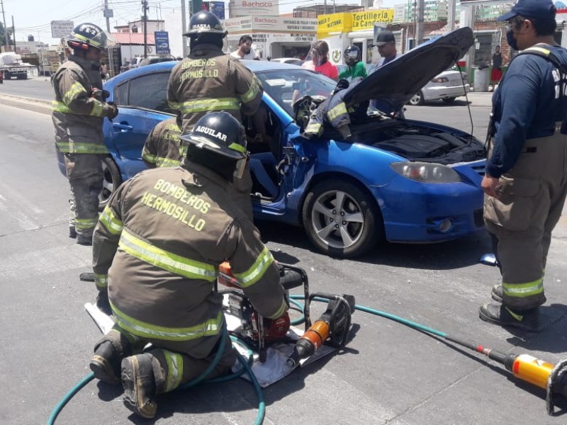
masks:
[[[456,98],[465,96],[466,92],[471,91],[471,86],[465,81],[467,81],[465,73],[461,74],[458,69],[449,69],[425,84],[408,103],[417,106],[439,99],[444,103],[453,103]]]

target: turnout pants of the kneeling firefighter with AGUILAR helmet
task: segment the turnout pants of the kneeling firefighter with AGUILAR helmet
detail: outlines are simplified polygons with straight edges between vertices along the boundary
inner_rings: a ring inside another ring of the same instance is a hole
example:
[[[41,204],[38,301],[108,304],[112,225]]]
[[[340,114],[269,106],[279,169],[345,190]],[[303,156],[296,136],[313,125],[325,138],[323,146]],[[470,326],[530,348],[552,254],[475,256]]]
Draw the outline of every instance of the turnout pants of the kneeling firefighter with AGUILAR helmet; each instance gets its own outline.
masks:
[[[128,356],[142,353],[144,346],[150,342],[152,348],[144,352],[152,354],[159,364],[157,366],[155,361],[152,362],[157,394],[173,391],[177,387],[201,376],[210,363],[213,362],[220,344],[220,339],[218,339],[208,356],[195,358],[188,353],[188,351],[191,352],[191,348],[195,348],[194,341],[191,341],[191,344],[186,344],[184,341],[163,341],[157,339],[150,341],[140,339],[118,326],[113,327],[108,334],[103,336],[94,347],[94,350],[96,351],[96,348],[104,341],[111,342],[120,357],[120,361]],[[225,348],[220,356],[220,361],[205,379],[216,378],[228,373],[236,361],[236,356],[230,337],[228,333],[225,333]]]

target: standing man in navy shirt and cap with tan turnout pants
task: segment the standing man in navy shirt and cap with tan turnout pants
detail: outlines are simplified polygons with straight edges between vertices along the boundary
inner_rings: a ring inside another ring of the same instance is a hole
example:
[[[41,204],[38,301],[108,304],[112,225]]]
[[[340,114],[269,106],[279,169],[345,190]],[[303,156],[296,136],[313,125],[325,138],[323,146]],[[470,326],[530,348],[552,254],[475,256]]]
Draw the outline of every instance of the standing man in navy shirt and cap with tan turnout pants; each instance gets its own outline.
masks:
[[[500,16],[507,41],[522,50],[493,96],[490,152],[481,186],[484,219],[496,241],[502,285],[481,319],[539,331],[551,232],[567,194],[567,51],[554,40],[551,0],[519,0]]]

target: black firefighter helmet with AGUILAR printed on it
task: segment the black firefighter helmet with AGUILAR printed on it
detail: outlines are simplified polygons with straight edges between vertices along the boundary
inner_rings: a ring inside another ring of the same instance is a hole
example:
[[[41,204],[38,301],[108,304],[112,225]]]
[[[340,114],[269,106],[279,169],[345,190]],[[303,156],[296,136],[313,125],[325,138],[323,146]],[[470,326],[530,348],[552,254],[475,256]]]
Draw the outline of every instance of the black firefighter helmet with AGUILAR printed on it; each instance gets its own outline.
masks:
[[[190,149],[196,147],[234,161],[247,156],[245,128],[228,112],[207,113],[181,140]]]

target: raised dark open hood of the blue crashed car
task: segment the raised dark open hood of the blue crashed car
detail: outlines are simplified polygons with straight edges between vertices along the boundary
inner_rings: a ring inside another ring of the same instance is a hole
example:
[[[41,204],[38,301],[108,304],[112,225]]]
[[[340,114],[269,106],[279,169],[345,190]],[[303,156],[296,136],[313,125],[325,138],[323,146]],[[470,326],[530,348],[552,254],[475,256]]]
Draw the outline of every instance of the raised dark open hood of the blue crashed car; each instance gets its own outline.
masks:
[[[344,102],[350,106],[379,99],[398,111],[428,81],[463,57],[473,42],[473,31],[465,27],[419,45],[353,84]]]

